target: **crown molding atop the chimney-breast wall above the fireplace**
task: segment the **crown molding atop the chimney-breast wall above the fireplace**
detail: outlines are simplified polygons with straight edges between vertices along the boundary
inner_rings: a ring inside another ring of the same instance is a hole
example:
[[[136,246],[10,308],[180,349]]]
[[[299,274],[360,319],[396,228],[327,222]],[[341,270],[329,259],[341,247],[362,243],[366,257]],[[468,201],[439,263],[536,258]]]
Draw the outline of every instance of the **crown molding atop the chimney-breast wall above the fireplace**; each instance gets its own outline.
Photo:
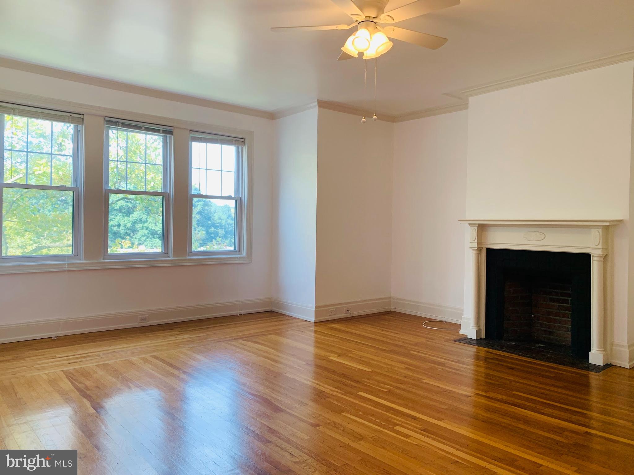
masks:
[[[626,51],[624,53],[612,54],[611,56],[604,56],[597,60],[584,61],[583,63],[576,63],[574,65],[564,66],[562,68],[555,68],[548,71],[531,73],[512,79],[505,79],[491,84],[479,85],[477,87],[471,87],[470,89],[464,89],[459,93],[453,93],[452,96],[462,96],[463,98],[471,98],[473,96],[480,96],[488,92],[500,91],[501,89],[508,89],[517,85],[530,84],[531,82],[543,81],[546,79],[553,79],[555,77],[567,76],[569,74],[580,73],[591,69],[602,68],[604,66],[616,65],[618,63],[624,63],[626,61],[634,60],[634,51]]]

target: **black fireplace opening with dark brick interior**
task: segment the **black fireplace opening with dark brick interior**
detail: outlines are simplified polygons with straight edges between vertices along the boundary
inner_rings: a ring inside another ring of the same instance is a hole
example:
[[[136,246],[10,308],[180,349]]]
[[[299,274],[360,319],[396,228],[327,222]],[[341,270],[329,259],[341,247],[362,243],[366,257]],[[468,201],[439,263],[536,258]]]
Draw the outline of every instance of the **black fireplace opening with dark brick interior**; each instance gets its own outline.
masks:
[[[486,251],[485,336],[588,360],[590,255]]]

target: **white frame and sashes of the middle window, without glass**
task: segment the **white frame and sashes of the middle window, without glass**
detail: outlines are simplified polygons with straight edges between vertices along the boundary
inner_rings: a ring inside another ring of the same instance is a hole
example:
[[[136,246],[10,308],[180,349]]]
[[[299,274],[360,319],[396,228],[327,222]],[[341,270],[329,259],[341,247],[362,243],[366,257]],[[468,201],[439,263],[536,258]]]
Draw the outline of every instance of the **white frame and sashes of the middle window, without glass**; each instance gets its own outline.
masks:
[[[118,125],[113,125],[118,124]],[[130,132],[148,132],[161,134],[163,136],[163,182],[162,191],[136,191],[110,188],[110,130],[124,129]],[[104,222],[103,222],[103,259],[104,260],[145,260],[145,259],[166,259],[172,255],[172,156],[173,156],[173,137],[172,127],[164,125],[145,124],[142,122],[134,122],[132,120],[122,120],[115,118],[106,118],[104,127],[104,144],[103,144],[103,186],[104,186]],[[144,252],[144,253],[108,253],[108,220],[110,211],[110,195],[111,194],[136,194],[141,196],[162,196],[163,197],[163,251],[162,252]]]

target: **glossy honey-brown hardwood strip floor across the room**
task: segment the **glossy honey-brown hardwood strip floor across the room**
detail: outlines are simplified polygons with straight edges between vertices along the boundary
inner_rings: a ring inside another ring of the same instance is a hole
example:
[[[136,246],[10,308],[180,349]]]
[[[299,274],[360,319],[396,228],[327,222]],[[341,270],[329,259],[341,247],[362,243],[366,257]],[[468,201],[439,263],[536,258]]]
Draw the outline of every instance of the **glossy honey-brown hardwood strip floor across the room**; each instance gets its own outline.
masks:
[[[0,449],[82,474],[634,474],[634,370],[455,343],[390,313],[0,345]]]

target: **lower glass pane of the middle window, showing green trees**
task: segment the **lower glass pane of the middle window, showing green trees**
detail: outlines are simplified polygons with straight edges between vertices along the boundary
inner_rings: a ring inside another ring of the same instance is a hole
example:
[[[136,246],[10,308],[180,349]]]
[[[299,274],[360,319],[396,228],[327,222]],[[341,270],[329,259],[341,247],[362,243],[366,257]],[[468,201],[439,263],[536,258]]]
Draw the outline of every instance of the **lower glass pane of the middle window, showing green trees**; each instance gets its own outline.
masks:
[[[108,253],[163,251],[162,196],[112,193],[108,206]]]

